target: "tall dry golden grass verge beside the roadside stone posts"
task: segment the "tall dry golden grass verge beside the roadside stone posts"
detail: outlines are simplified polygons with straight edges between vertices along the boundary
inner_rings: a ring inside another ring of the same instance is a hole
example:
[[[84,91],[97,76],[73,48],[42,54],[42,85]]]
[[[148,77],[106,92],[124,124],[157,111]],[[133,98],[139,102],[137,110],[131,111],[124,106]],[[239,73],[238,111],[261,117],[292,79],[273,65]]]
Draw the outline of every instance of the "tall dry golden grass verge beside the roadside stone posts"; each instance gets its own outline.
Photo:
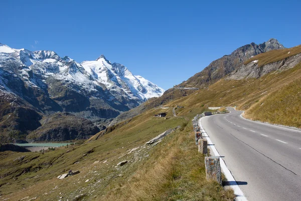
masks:
[[[232,190],[206,180],[204,156],[194,143],[191,123],[165,139],[151,158],[104,200],[233,200]]]

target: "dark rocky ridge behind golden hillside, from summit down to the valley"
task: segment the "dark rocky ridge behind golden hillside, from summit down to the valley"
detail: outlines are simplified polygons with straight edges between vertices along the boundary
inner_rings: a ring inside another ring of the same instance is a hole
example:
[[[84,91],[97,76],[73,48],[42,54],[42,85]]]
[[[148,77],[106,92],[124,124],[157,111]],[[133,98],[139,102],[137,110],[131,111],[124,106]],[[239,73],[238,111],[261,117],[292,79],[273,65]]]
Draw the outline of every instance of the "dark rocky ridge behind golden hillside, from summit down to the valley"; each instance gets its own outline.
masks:
[[[259,45],[256,45],[255,43],[244,45],[233,51],[230,55],[225,55],[222,58],[213,61],[204,70],[190,77],[187,81],[184,81],[181,84],[166,90],[162,96],[149,99],[147,102],[139,105],[138,107],[120,114],[111,122],[110,126],[141,114],[148,109],[159,107],[171,102],[172,100],[196,92],[195,90],[184,89],[183,87],[197,87],[206,89],[209,85],[220,80],[225,75],[237,70],[241,65],[244,64],[244,62],[255,58],[255,55],[278,49],[285,48],[276,39],[269,39],[267,42],[263,42]]]

